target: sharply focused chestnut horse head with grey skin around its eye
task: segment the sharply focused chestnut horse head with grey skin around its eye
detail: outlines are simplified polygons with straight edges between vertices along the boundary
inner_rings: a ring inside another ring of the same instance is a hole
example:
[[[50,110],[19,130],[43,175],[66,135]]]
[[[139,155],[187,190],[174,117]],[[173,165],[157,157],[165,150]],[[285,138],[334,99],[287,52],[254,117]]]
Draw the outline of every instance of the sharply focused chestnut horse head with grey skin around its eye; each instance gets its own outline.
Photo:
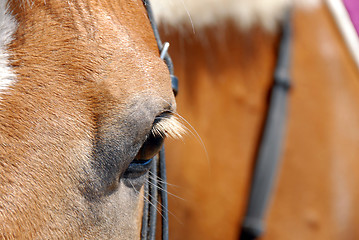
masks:
[[[179,129],[144,3],[1,0],[0,32],[0,238],[139,239]]]

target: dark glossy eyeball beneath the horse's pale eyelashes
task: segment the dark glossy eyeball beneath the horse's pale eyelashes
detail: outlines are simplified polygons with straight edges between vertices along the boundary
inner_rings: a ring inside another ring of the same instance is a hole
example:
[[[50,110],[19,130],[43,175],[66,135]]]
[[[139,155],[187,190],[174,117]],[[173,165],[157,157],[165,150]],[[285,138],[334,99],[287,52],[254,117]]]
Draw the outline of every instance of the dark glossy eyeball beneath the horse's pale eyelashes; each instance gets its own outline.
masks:
[[[163,137],[155,136],[151,133],[137,153],[135,160],[148,160],[153,158],[160,151],[163,141]]]

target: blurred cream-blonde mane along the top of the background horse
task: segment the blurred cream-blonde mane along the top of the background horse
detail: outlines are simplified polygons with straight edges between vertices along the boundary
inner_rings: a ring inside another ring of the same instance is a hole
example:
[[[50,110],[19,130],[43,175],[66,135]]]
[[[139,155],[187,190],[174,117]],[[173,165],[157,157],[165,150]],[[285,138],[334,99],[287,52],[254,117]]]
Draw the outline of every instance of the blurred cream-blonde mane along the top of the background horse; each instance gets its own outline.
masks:
[[[313,8],[320,0],[152,0],[158,23],[195,30],[233,21],[240,29],[259,25],[273,31],[288,7]]]

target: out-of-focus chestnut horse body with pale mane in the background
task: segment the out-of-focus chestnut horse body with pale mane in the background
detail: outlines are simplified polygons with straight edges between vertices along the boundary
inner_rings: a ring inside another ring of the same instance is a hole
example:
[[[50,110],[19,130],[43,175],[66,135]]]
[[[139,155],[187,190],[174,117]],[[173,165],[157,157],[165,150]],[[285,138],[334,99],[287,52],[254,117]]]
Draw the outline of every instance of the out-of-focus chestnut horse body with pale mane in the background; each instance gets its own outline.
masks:
[[[166,146],[181,198],[170,196],[171,239],[238,239],[289,1],[157,2],[178,112],[205,145]],[[358,67],[324,2],[291,7],[293,83],[260,239],[358,239]]]

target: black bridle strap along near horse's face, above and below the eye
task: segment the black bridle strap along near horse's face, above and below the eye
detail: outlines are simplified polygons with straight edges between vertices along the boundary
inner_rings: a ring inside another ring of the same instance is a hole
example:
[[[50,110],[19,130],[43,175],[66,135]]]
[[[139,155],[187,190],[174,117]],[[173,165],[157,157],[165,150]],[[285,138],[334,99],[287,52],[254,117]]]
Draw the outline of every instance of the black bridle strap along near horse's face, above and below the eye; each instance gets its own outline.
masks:
[[[157,24],[154,20],[151,4],[149,0],[143,0],[146,7],[148,18],[150,20],[153,33],[155,35],[157,46],[160,51],[160,57],[166,62],[172,83],[172,90],[175,96],[178,92],[178,79],[173,73],[173,63],[171,57],[167,53],[169,44],[162,44]],[[165,148],[162,147],[158,155],[152,160],[152,166],[148,173],[148,181],[144,187],[144,207],[142,217],[142,240],[156,239],[157,226],[157,206],[161,208],[162,219],[162,240],[168,240],[168,198],[167,198],[167,176],[166,176],[166,159]],[[160,200],[160,203],[159,203]]]

